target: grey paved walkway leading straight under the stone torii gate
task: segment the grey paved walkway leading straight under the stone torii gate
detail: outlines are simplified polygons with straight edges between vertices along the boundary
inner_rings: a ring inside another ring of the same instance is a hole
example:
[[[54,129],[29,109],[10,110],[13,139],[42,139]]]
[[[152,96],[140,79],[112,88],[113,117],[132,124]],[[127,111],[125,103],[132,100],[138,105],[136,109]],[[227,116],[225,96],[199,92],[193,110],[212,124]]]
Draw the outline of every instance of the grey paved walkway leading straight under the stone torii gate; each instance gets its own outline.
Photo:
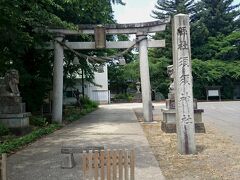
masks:
[[[73,169],[61,169],[62,145],[104,145],[136,148],[136,180],[164,179],[132,107],[140,104],[101,106],[78,122],[56,131],[8,159],[9,180],[79,180],[80,157]]]

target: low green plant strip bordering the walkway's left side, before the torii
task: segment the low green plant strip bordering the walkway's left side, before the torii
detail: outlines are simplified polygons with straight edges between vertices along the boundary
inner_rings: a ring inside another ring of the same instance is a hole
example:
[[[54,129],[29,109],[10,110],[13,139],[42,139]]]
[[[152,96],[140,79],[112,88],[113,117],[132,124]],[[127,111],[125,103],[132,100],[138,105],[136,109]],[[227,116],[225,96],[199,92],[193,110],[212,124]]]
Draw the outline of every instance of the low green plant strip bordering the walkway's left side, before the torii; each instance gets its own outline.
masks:
[[[25,136],[7,140],[0,144],[0,154],[14,152],[61,127],[59,124],[50,124],[44,128],[36,129]]]

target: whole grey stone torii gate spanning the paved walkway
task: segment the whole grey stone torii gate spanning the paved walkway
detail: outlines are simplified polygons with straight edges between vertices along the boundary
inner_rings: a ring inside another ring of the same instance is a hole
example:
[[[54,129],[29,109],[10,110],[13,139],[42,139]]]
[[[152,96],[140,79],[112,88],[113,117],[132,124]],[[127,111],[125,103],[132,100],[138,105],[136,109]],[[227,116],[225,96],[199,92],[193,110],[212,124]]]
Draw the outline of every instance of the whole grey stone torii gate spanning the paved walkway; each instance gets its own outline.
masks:
[[[139,48],[140,57],[140,76],[141,76],[141,89],[142,89],[142,102],[143,102],[143,116],[145,122],[153,121],[152,117],[152,100],[151,100],[151,86],[149,77],[148,65],[148,48],[165,47],[165,40],[147,40],[148,33],[164,31],[166,24],[170,19],[162,21],[152,21],[145,23],[135,24],[107,24],[104,26],[97,25],[79,25],[78,31],[66,29],[49,29],[51,33],[55,34],[55,41],[53,46],[48,49],[54,49],[54,71],[53,71],[53,107],[52,119],[58,123],[62,123],[62,99],[63,99],[63,58],[64,47],[59,43],[63,42],[66,35],[80,35],[80,34],[95,34],[95,42],[67,42],[65,45],[71,49],[103,49],[115,48],[124,49],[135,46]],[[99,33],[100,36],[96,37]],[[102,34],[102,35],[101,35]],[[135,34],[136,42],[134,41],[117,41],[108,42],[104,40],[103,44],[99,44],[98,38],[104,38],[106,34]]]

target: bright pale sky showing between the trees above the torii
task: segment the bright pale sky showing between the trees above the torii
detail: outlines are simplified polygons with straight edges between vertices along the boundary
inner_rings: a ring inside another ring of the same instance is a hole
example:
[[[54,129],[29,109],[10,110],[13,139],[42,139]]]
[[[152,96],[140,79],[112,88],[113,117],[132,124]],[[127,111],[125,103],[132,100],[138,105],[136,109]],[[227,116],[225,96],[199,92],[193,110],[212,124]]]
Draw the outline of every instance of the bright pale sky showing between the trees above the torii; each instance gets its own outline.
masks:
[[[137,23],[154,21],[152,10],[157,0],[124,0],[125,6],[113,5],[114,17],[118,23]],[[240,0],[234,0],[234,3],[240,3]]]

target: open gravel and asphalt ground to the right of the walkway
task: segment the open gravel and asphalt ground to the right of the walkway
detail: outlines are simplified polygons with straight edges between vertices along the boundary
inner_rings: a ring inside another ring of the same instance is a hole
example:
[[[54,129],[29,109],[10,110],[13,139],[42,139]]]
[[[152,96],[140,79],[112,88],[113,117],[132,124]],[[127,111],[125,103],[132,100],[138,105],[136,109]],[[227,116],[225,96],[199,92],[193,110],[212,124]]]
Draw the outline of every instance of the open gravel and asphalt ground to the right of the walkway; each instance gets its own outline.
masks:
[[[196,134],[197,154],[180,155],[176,134],[161,131],[160,109],[155,104],[156,124],[142,124],[148,142],[166,179],[240,179],[240,102],[202,102],[206,133]],[[142,121],[141,109],[135,109]]]

